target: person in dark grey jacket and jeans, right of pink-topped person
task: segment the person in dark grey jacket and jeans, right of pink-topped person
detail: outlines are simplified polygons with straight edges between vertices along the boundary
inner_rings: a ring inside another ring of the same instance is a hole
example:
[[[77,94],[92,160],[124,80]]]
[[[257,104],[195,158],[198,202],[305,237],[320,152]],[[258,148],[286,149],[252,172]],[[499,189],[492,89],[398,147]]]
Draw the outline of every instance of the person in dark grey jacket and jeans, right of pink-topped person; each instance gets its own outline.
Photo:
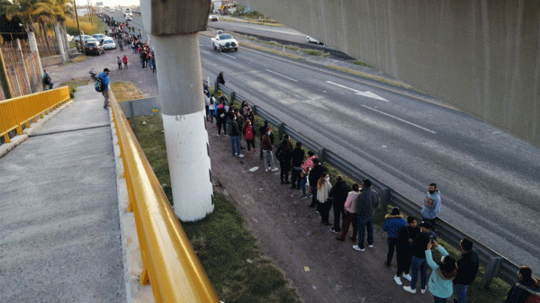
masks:
[[[358,245],[353,249],[364,252],[365,230],[367,229],[367,246],[374,246],[374,214],[379,206],[379,193],[371,188],[371,180],[365,179],[363,189],[356,201],[356,213],[358,214]]]

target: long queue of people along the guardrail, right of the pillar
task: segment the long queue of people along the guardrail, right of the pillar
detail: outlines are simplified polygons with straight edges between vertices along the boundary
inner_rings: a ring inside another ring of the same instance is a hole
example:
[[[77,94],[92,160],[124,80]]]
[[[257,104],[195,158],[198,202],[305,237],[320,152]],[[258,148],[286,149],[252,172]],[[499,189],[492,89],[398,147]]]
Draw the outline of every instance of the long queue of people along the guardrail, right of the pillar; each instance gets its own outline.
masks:
[[[224,84],[222,72],[216,79]],[[219,94],[218,99],[210,93],[208,85],[203,85],[206,105],[206,119],[217,124],[217,136],[221,128],[230,137],[231,155],[243,157],[241,153],[241,138],[247,146],[247,155],[257,155],[255,138],[259,138],[259,157],[263,160],[265,170],[277,171],[275,158],[279,162],[280,182],[291,184],[292,190],[302,190],[301,200],[311,196],[309,206],[320,214],[320,222],[330,226],[330,231],[338,234],[336,239],[345,242],[352,226],[351,241],[356,242],[353,249],[365,251],[374,247],[374,215],[381,211],[379,193],[372,188],[369,179],[362,184],[352,186],[341,175],[336,176],[336,182],[330,183],[329,174],[320,160],[311,151],[302,149],[302,142],[296,142],[294,147],[288,135],[277,145],[274,153],[275,136],[268,121],[255,128],[255,115],[247,102],[242,102],[239,109],[232,107],[226,96]],[[253,154],[251,151],[253,150]],[[289,174],[291,179],[289,181]],[[330,223],[329,212],[334,208],[333,224]],[[404,218],[399,208],[385,216],[383,231],[387,234],[385,265],[390,267],[394,252],[397,270],[393,281],[404,291],[415,294],[429,293],[434,302],[447,302],[454,296],[454,302],[466,302],[467,290],[476,278],[479,269],[479,256],[473,250],[473,242],[464,238],[460,242],[461,257],[455,260],[446,249],[437,243],[437,218],[441,211],[441,195],[436,183],[430,183],[423,201],[421,221],[414,217]],[[440,261],[433,259],[432,251],[437,250],[442,255]],[[428,268],[431,273],[428,278]],[[519,281],[509,291],[507,303],[538,302],[540,287],[528,267],[519,270]],[[404,281],[409,285],[403,285]],[[527,300],[529,299],[529,300]],[[534,300],[536,299],[536,301]]]

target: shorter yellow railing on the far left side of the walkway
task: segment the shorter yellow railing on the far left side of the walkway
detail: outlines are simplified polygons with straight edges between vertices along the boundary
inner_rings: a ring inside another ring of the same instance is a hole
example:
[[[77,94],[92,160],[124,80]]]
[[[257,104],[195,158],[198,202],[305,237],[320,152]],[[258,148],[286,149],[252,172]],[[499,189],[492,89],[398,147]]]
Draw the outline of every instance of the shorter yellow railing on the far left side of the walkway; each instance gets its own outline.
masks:
[[[63,86],[0,101],[0,137],[4,136],[8,143],[10,131],[17,129],[17,135],[21,135],[23,124],[30,127],[30,120],[37,122],[38,116],[43,118],[43,113],[48,115],[69,99],[69,87]]]

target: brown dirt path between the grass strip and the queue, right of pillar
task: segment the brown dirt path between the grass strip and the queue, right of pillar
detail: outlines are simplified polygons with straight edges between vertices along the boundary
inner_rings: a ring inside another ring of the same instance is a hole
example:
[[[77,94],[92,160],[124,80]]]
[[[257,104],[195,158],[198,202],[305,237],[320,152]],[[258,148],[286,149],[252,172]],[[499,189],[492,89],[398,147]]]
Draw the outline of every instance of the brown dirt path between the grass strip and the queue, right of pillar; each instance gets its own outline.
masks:
[[[393,281],[395,257],[387,268],[380,227],[375,227],[374,248],[356,252],[349,239],[335,240],[329,227],[320,224],[319,215],[308,207],[310,200],[299,200],[302,191],[280,185],[279,172],[265,172],[258,153],[233,157],[229,136],[217,137],[215,124],[207,122],[207,129],[214,184],[234,201],[263,254],[293,281],[305,302],[433,301],[429,293],[412,295]],[[259,169],[249,172],[254,166]]]

